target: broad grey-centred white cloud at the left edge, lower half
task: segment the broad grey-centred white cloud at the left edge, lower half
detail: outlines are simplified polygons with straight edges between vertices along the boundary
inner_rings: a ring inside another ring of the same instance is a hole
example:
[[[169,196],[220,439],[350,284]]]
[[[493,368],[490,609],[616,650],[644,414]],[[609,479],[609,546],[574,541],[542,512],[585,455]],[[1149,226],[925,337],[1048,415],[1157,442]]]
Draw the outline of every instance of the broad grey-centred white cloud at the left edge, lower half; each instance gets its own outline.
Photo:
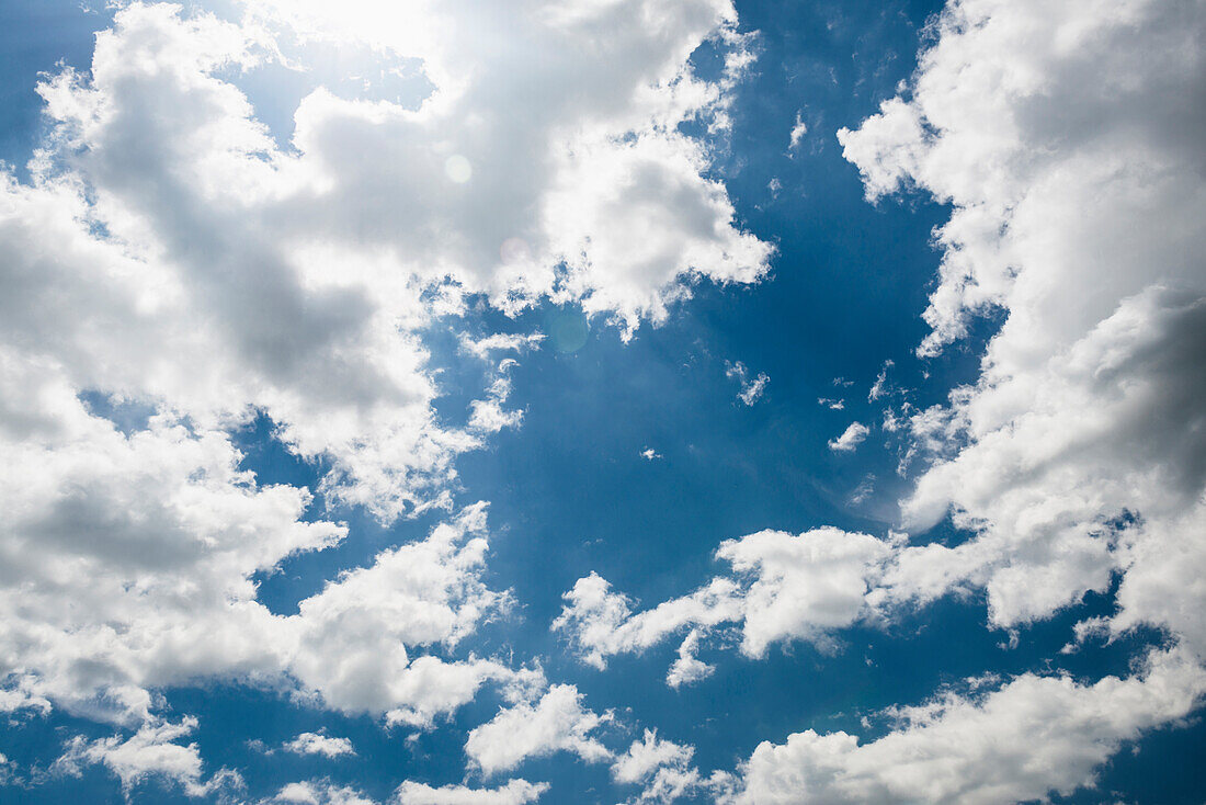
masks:
[[[147,687],[276,666],[283,622],[251,574],[346,530],[300,521],[306,490],[258,486],[224,433],[156,416],[125,437],[25,377],[62,415],[42,438],[6,441],[0,467],[0,646],[23,681],[10,693],[142,718]]]

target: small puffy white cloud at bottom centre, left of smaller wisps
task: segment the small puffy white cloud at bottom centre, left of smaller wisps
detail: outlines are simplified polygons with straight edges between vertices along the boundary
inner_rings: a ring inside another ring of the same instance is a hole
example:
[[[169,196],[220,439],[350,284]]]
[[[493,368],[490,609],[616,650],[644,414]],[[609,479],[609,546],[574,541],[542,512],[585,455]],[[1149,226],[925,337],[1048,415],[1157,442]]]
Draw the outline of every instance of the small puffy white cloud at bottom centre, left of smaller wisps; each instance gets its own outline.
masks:
[[[464,749],[486,775],[509,771],[526,758],[573,752],[587,763],[611,757],[591,734],[610,714],[599,716],[581,705],[570,684],[555,684],[535,706],[519,702],[499,710],[494,718],[469,733]]]

